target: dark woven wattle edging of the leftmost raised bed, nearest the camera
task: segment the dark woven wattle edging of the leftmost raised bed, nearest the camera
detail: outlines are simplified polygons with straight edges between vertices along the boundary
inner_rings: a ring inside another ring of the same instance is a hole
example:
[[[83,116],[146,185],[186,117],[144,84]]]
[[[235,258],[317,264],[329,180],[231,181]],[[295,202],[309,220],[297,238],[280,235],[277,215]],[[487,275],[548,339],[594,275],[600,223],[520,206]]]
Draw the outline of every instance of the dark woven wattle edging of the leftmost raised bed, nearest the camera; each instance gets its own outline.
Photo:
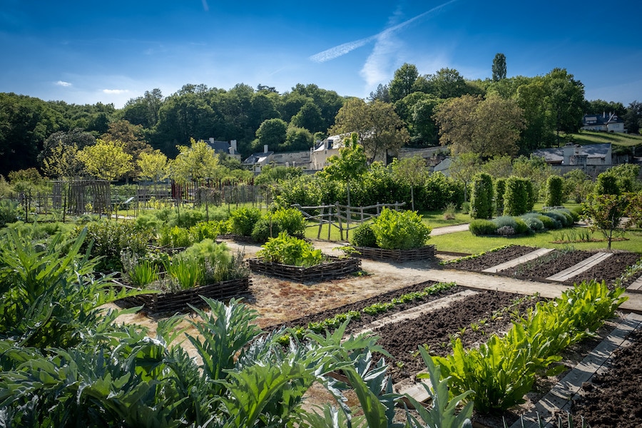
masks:
[[[203,307],[205,305],[205,300],[200,296],[210,297],[215,300],[228,300],[248,292],[251,283],[250,277],[244,277],[202,285],[190,290],[126,297],[118,300],[118,302],[126,307],[143,306],[143,311],[149,313],[189,312],[190,307],[188,305],[194,307]],[[123,287],[133,289],[128,285],[123,285]]]

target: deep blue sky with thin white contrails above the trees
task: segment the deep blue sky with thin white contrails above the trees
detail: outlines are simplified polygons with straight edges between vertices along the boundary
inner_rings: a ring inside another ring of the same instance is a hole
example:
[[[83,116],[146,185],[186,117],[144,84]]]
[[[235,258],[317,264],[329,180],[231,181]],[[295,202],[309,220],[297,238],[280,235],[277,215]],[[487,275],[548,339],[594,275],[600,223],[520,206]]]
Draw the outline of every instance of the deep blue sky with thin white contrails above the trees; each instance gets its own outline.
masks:
[[[586,98],[642,101],[642,1],[0,0],[0,92],[113,103],[185,83],[315,83],[365,98],[403,63],[566,68]]]

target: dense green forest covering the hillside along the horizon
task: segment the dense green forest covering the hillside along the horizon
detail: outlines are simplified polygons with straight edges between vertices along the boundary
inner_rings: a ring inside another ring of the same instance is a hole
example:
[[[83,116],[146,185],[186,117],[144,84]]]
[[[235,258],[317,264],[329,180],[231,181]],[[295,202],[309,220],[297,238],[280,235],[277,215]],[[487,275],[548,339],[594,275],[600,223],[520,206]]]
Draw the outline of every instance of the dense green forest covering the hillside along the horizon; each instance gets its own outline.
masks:
[[[450,68],[420,75],[406,63],[366,101],[315,84],[285,93],[243,83],[228,90],[186,84],[168,96],[146,91],[123,108],[0,93],[0,174],[42,171],[56,146],[80,150],[96,138],[123,141],[134,159],[153,149],[173,158],[190,138],[236,140],[245,157],[264,144],[271,151],[305,150],[327,135],[358,131],[392,153],[441,143],[490,158],[563,143],[561,136],[579,130],[584,113],[616,113],[630,133],[642,124],[642,103],[586,101],[584,85],[565,69],[507,78],[498,54],[492,70],[492,78],[472,81]]]

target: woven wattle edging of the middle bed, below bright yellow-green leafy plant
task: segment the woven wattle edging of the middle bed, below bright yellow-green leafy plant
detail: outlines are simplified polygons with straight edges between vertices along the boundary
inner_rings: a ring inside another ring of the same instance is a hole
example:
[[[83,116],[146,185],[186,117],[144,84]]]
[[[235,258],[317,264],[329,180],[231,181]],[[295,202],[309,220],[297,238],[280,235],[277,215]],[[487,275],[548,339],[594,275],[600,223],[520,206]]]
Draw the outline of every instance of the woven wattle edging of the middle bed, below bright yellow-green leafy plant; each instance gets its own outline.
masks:
[[[250,270],[263,275],[283,277],[298,282],[317,282],[344,277],[361,269],[361,260],[355,258],[336,258],[327,256],[320,265],[301,267],[267,263],[260,258],[247,260]]]

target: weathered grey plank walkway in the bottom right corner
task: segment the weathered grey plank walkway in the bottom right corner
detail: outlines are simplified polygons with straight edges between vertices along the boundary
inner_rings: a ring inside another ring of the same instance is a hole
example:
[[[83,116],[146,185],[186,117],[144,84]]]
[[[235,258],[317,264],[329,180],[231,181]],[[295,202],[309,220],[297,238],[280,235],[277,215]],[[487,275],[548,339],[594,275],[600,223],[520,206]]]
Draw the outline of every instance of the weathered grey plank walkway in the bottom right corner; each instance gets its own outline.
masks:
[[[539,428],[538,414],[541,421],[546,422],[544,427],[554,427],[552,420],[554,412],[569,410],[582,384],[588,382],[596,373],[608,370],[608,360],[613,355],[613,351],[626,345],[631,332],[640,327],[642,327],[642,315],[628,314],[611,332],[611,335],[602,340],[535,405],[531,412],[524,414],[521,420],[511,425],[511,428]]]

